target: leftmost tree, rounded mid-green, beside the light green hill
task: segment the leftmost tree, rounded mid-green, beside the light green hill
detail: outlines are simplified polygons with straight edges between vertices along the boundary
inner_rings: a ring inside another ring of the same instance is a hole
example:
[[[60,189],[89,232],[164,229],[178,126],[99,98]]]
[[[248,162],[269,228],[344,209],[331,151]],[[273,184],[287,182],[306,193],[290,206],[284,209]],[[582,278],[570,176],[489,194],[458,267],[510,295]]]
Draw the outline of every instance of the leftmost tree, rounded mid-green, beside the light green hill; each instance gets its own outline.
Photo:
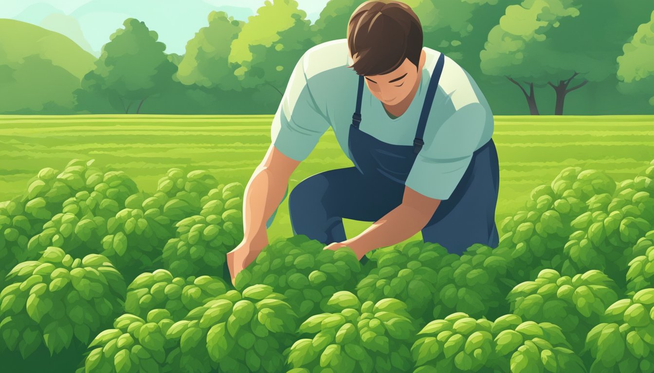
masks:
[[[124,29],[118,29],[111,41],[102,47],[95,69],[82,79],[82,91],[77,92],[78,103],[88,97],[103,97],[120,112],[128,113],[137,104],[136,114],[148,97],[165,90],[177,70],[163,52],[165,44],[144,22],[128,18]]]

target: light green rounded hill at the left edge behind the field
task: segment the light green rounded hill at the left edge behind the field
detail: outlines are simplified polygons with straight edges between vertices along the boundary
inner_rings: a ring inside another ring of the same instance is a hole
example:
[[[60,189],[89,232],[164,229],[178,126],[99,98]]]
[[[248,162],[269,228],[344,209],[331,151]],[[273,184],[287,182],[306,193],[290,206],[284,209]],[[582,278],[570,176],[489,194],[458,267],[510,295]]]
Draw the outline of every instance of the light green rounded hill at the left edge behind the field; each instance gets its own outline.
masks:
[[[71,39],[26,22],[0,18],[0,114],[73,112],[73,91],[95,57]]]

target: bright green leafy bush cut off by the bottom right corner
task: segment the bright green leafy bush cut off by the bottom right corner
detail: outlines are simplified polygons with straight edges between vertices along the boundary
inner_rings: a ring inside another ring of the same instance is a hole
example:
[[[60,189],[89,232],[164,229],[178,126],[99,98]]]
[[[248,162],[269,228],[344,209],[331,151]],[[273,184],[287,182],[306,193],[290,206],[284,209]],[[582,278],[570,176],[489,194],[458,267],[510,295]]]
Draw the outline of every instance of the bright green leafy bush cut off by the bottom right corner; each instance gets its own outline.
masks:
[[[588,333],[590,372],[654,372],[654,289],[642,289],[614,302]]]

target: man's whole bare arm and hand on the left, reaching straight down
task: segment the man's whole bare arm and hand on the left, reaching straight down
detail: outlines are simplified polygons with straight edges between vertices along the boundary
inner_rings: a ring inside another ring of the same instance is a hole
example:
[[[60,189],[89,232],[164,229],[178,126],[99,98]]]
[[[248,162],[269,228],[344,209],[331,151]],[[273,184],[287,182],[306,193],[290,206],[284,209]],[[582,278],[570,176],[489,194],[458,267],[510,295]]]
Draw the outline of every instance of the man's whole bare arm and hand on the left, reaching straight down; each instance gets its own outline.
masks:
[[[254,169],[243,195],[243,241],[227,254],[232,282],[268,244],[266,221],[284,198],[288,179],[300,161],[282,154],[274,145]]]

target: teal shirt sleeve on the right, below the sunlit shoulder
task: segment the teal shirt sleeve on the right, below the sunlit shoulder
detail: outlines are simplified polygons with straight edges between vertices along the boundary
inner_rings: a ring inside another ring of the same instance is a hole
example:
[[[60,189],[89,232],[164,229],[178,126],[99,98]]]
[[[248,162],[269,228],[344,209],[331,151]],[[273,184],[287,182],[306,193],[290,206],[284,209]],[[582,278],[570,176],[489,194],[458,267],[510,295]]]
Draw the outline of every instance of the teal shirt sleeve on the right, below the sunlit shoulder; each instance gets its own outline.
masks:
[[[424,146],[405,186],[426,197],[448,199],[470,165],[484,135],[487,116],[486,108],[479,102],[468,103],[453,112],[434,136],[429,140],[424,138]]]

